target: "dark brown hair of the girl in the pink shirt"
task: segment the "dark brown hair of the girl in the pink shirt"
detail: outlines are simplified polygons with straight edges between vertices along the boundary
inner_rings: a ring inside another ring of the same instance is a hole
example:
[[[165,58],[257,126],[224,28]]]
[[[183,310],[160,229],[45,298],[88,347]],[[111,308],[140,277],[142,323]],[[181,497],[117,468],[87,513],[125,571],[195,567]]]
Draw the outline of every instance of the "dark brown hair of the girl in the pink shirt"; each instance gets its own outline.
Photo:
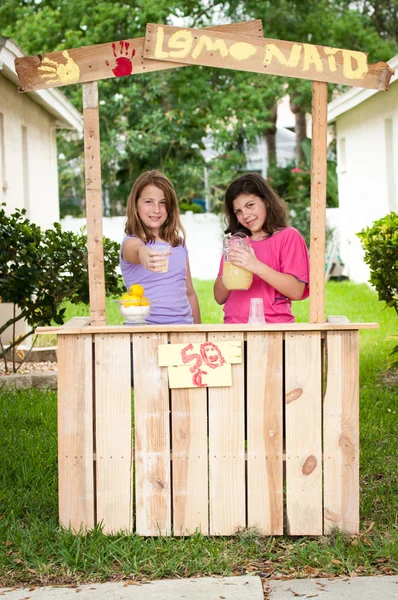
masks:
[[[241,225],[234,213],[234,200],[241,194],[257,196],[260,198],[267,209],[267,216],[263,225],[263,231],[267,235],[272,235],[278,229],[287,226],[287,210],[282,198],[258,173],[245,173],[235,179],[225,192],[224,209],[227,218],[227,229],[225,233],[237,233],[243,231],[251,235],[249,229]]]

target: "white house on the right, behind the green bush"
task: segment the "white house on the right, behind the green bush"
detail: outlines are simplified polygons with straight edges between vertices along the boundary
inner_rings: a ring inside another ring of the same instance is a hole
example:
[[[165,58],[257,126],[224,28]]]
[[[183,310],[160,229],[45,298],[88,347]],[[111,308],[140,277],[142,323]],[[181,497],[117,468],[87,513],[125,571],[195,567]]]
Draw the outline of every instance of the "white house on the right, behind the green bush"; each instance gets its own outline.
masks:
[[[356,233],[398,211],[398,55],[387,92],[351,88],[328,106],[335,123],[340,255],[352,281],[369,280]]]

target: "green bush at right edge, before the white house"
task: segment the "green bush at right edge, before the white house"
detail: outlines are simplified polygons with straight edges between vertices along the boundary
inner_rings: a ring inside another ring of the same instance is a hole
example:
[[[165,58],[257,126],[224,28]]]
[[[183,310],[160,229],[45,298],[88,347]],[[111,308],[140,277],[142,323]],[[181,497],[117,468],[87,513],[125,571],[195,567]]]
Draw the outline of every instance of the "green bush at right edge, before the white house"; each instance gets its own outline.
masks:
[[[398,316],[398,214],[391,212],[366,227],[357,236],[365,250],[370,268],[370,283],[380,300],[392,306]],[[392,353],[391,367],[398,367],[398,346]]]

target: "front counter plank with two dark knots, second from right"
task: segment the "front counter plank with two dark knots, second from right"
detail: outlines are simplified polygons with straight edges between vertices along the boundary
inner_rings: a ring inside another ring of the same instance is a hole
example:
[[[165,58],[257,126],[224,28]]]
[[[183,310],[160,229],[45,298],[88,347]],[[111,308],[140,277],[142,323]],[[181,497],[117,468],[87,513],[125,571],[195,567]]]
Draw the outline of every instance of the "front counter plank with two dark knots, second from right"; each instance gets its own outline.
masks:
[[[286,506],[290,535],[322,534],[321,336],[285,339]]]

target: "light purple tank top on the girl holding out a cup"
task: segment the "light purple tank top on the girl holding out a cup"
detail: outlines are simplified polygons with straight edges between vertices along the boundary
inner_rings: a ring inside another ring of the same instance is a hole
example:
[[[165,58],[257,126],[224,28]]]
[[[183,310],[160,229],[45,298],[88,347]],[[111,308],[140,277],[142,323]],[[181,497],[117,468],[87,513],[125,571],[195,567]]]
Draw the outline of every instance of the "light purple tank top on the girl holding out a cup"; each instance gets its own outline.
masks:
[[[143,286],[145,296],[151,302],[151,314],[146,321],[151,325],[193,323],[191,305],[187,297],[188,250],[186,247],[177,246],[171,249],[167,273],[153,273],[142,265],[135,265],[123,259],[123,244],[129,237],[134,236],[126,236],[120,246],[120,269],[127,289],[133,283]],[[166,242],[164,243],[166,245]],[[145,245],[151,246],[151,244]]]

